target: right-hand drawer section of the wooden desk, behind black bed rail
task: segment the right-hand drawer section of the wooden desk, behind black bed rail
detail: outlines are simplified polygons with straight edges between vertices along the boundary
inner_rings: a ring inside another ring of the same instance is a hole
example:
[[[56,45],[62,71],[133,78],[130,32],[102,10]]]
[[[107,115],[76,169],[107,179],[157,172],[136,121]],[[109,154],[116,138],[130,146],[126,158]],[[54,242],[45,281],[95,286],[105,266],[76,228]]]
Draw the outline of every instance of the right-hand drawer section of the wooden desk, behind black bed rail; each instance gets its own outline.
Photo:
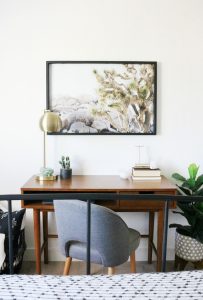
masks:
[[[120,193],[121,195],[122,194],[128,194],[128,193]],[[129,193],[129,194],[132,194],[132,193]],[[143,191],[143,192],[135,192],[135,197],[136,197],[136,194],[163,194],[163,195],[174,195],[174,192],[171,192],[171,191],[161,191],[161,192],[152,192],[152,191]],[[162,201],[156,201],[156,200],[120,200],[119,202],[119,208],[120,210],[122,211],[128,211],[128,210],[135,210],[135,211],[146,211],[147,210],[158,210],[160,208],[163,208],[164,207],[164,202]],[[175,208],[175,202],[170,202],[170,205],[169,205],[170,208]]]

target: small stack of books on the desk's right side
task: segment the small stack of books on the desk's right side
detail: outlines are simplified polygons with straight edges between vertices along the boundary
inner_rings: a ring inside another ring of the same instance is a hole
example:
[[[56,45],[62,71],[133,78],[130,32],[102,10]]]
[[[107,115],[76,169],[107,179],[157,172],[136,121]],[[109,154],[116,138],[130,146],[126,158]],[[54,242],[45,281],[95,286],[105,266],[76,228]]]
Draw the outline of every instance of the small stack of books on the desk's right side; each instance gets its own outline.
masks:
[[[132,179],[139,181],[161,180],[161,170],[150,169],[147,164],[137,164],[132,168]]]

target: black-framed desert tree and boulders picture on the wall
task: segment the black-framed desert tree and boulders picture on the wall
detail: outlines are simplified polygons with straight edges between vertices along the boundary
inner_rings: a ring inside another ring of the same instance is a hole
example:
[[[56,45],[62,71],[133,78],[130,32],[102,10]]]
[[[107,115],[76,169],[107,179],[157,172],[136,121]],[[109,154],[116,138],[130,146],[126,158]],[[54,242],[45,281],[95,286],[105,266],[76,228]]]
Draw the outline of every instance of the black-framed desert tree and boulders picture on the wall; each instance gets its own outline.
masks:
[[[46,79],[52,134],[156,134],[156,62],[47,61]]]

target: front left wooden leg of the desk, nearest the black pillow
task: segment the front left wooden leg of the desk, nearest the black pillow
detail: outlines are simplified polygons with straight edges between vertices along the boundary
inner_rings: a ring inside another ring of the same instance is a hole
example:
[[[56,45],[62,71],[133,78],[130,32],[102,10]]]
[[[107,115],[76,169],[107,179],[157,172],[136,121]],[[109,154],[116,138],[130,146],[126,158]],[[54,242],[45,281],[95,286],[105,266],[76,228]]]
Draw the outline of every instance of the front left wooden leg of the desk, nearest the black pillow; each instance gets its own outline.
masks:
[[[33,209],[36,273],[41,274],[40,210]]]

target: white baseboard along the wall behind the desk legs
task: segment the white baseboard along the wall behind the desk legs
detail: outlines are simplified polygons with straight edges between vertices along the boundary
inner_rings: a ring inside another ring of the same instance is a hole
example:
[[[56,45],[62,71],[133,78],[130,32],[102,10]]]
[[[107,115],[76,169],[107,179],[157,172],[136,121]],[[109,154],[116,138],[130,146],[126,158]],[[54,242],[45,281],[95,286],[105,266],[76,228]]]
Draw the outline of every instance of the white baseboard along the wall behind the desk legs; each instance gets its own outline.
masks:
[[[174,260],[174,249],[167,249],[167,260]],[[156,260],[156,256],[153,254],[153,260]],[[25,261],[35,261],[35,252],[33,248],[26,250],[24,255]],[[42,261],[44,260],[42,255]],[[57,248],[49,249],[49,260],[50,261],[64,261],[64,256],[59,252]],[[136,251],[136,260],[137,261],[147,261],[147,248],[139,247]]]

